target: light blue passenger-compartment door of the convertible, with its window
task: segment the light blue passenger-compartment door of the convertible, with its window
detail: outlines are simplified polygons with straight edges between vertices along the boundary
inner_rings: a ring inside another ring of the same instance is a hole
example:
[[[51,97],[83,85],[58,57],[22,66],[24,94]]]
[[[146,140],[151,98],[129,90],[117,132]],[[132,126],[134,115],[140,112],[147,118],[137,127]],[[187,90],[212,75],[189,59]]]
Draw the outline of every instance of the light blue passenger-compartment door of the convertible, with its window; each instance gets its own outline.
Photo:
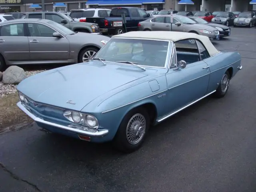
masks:
[[[168,108],[177,110],[202,98],[208,89],[210,80],[209,66],[200,57],[195,39],[176,42],[169,70],[166,73],[168,86]],[[185,68],[178,68],[178,62],[184,60]]]

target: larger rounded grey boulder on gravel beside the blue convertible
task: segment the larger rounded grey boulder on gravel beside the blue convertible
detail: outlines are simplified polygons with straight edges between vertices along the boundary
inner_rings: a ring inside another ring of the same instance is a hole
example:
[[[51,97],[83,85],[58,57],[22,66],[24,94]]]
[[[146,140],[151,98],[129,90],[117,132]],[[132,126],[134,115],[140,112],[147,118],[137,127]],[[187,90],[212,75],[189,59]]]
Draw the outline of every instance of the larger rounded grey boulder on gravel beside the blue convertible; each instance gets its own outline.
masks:
[[[18,66],[10,66],[3,73],[4,84],[18,84],[26,78],[25,71]]]

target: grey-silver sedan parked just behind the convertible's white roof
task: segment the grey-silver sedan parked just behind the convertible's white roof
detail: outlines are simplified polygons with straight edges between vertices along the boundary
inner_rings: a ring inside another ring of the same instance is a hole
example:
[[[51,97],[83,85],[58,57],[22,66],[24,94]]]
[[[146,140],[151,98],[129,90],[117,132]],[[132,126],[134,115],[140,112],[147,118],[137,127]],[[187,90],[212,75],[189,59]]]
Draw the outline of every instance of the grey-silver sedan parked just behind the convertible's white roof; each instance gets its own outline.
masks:
[[[172,28],[171,28],[172,25]],[[219,40],[220,33],[216,28],[211,26],[197,24],[194,20],[174,15],[171,24],[171,16],[159,15],[154,18],[142,21],[138,24],[140,31],[179,31],[179,32],[190,32],[199,35],[208,36],[210,40]]]

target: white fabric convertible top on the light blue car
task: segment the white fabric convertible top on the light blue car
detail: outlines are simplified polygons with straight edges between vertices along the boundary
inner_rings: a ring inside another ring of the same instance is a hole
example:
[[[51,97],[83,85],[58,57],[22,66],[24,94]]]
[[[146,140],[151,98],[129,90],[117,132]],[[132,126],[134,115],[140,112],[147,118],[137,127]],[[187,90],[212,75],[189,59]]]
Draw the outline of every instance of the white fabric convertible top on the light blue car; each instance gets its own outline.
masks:
[[[143,38],[155,40],[170,40],[173,42],[183,39],[198,39],[204,44],[210,56],[217,54],[219,51],[214,47],[210,39],[206,36],[187,32],[173,32],[173,31],[132,31],[119,35],[112,36],[112,38]]]

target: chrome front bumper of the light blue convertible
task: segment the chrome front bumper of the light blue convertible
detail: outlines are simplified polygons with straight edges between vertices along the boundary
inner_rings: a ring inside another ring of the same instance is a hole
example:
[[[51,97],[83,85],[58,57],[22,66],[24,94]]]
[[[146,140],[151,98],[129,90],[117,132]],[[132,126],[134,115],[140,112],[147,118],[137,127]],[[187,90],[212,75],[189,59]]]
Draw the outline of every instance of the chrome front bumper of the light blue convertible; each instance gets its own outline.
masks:
[[[108,134],[108,130],[93,130],[93,129],[90,129],[90,128],[86,128],[86,130],[80,130],[80,129],[71,128],[71,127],[68,127],[68,126],[63,126],[63,125],[60,125],[60,124],[48,122],[48,121],[42,120],[41,118],[38,118],[38,117],[34,116],[29,110],[26,109],[26,107],[22,104],[21,101],[17,103],[17,106],[24,113],[26,113],[28,116],[30,116],[30,118],[32,118],[35,122],[38,122],[38,123],[42,123],[42,124],[45,124],[45,125],[48,125],[48,126],[60,128],[60,129],[70,131],[70,132],[74,132],[74,133],[77,133],[77,134],[83,134],[83,135],[90,136],[90,137],[102,137],[102,136]]]

